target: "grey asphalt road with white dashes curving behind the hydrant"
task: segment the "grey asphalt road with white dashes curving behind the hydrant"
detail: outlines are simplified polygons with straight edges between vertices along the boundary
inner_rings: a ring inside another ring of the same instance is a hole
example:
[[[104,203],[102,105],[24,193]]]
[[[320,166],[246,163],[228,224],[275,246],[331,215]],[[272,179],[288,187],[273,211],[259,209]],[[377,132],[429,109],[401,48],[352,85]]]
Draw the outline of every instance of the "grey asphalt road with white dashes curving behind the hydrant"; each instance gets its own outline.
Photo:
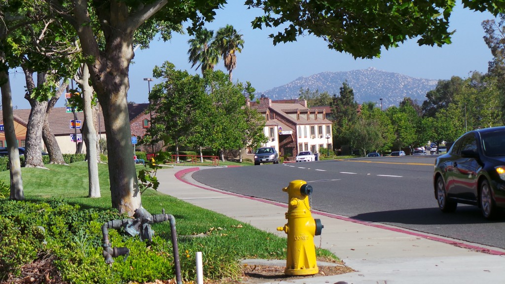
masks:
[[[433,194],[435,156],[378,157],[215,168],[192,177],[221,190],[287,203],[291,180],[314,188],[316,210],[505,249],[505,216],[485,220],[476,206],[442,213]]]

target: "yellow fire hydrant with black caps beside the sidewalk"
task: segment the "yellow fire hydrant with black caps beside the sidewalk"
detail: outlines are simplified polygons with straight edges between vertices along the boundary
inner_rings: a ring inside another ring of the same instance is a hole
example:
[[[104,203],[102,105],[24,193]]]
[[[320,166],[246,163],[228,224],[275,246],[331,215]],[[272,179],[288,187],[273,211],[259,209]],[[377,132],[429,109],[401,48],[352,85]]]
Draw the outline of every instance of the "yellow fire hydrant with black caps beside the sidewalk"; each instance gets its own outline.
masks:
[[[284,273],[287,275],[314,275],[319,272],[316,262],[314,236],[320,235],[321,220],[312,218],[309,196],[312,186],[303,180],[293,180],[282,188],[289,196],[286,212],[287,224],[278,231],[287,233],[287,259]]]

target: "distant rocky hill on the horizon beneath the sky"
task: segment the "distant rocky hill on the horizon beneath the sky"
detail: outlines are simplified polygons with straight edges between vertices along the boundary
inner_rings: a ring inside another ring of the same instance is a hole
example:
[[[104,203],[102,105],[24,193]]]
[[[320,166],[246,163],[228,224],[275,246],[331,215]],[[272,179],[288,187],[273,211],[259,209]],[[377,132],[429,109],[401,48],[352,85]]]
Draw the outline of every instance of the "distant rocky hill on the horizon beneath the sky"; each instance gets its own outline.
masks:
[[[436,87],[438,80],[413,78],[406,75],[385,72],[375,68],[352,70],[347,72],[323,72],[309,77],[299,77],[285,85],[258,92],[257,98],[262,94],[272,100],[294,99],[299,97],[300,88],[316,89],[319,92],[327,91],[331,96],[339,94],[342,82],[354,90],[356,101],[377,102],[382,98],[384,109],[388,106],[397,106],[404,97],[417,99],[419,104],[426,100],[426,92]]]

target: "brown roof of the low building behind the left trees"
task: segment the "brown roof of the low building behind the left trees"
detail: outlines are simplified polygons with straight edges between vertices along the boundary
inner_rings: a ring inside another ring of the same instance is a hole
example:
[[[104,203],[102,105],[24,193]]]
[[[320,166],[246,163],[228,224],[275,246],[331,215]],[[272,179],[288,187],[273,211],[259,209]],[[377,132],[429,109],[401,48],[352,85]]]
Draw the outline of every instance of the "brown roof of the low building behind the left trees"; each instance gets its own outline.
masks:
[[[136,117],[141,115],[144,110],[147,108],[149,104],[129,104],[128,105],[128,115],[130,117],[130,122],[134,120]],[[23,125],[28,124],[28,118],[30,116],[30,109],[18,109],[14,110],[14,119]],[[77,120],[84,120],[84,113],[77,112],[76,113]],[[3,123],[3,112],[0,111],[0,120]],[[70,128],[70,121],[74,120],[73,113],[67,113],[67,108],[53,108],[51,114],[49,114],[49,127],[53,131],[54,135],[65,135],[71,134],[75,132],[75,129]],[[104,115],[100,111],[98,113],[98,126],[100,128],[100,132],[105,132],[105,123],[104,123]],[[78,130],[79,131],[79,130]],[[80,131],[79,131],[80,132]]]

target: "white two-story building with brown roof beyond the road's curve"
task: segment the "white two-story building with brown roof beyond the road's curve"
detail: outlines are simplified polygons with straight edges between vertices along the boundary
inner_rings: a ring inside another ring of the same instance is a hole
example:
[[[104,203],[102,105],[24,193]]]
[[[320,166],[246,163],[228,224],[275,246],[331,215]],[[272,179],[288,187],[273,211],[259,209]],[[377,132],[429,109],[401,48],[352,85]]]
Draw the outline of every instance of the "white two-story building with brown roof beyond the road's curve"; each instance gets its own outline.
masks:
[[[275,147],[281,157],[293,160],[300,151],[319,153],[320,148],[332,149],[332,122],[326,119],[325,108],[308,108],[304,100],[269,98],[248,104],[265,117],[268,142],[264,146]],[[247,149],[244,157],[252,159],[254,149]]]

